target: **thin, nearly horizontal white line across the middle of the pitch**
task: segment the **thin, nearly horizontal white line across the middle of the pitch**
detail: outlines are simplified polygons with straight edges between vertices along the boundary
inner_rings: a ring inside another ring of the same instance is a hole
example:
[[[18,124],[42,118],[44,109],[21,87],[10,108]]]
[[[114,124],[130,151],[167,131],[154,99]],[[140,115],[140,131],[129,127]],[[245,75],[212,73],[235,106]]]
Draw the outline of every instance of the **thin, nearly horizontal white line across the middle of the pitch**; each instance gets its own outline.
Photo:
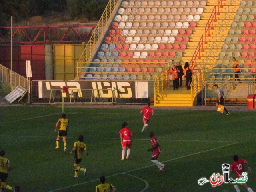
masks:
[[[56,132],[58,133],[58,132]],[[56,136],[31,136],[31,135],[0,135],[1,137],[31,137],[31,138],[56,138]],[[68,138],[77,138],[77,137],[69,137]],[[120,138],[98,138],[98,137],[86,137],[86,139],[96,139],[96,140],[120,140]],[[132,140],[150,140],[150,139],[135,139]],[[180,142],[226,142],[226,143],[234,143],[238,141],[213,141],[213,140],[175,140],[175,139],[158,139],[159,141],[180,141]]]

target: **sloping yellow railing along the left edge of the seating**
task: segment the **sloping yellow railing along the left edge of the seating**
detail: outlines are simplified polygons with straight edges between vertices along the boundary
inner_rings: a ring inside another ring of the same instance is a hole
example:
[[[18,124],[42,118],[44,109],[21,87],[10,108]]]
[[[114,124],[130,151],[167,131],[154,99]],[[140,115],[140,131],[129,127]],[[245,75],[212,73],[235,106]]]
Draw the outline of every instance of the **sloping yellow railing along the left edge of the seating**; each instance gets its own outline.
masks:
[[[104,32],[104,28],[108,25],[108,20],[110,19],[112,12],[114,12],[117,8],[118,3],[120,3],[121,0],[109,0],[102,16],[100,17],[100,20],[95,27],[94,31],[92,32],[92,36],[90,37],[84,52],[82,53],[79,61],[84,62],[88,61],[92,58],[92,53],[97,49],[95,47],[96,43],[100,39],[100,36],[102,35],[102,32]],[[80,63],[81,64],[81,63]]]

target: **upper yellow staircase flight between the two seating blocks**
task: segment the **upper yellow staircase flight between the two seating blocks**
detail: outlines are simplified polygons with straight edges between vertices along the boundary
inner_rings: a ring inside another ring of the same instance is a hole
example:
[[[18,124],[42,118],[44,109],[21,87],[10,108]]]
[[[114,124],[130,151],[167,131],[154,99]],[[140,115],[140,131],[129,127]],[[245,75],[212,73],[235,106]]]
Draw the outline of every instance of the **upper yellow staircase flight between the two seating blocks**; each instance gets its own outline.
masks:
[[[220,48],[224,44],[224,40],[227,36],[230,25],[236,15],[236,10],[239,7],[240,1],[226,0],[222,1],[222,8],[219,8],[220,14],[218,15],[218,1],[209,0],[207,6],[205,7],[204,13],[201,16],[197,27],[194,29],[191,35],[190,42],[188,42],[187,49],[182,57],[182,63],[190,62],[198,42],[202,35],[204,35],[205,40],[205,26],[212,14],[214,6],[216,6],[216,20],[213,22],[214,29],[210,29],[210,37],[207,36],[207,44],[204,44],[204,52],[200,52],[200,59],[197,62],[215,62],[218,59],[218,54],[220,53]]]

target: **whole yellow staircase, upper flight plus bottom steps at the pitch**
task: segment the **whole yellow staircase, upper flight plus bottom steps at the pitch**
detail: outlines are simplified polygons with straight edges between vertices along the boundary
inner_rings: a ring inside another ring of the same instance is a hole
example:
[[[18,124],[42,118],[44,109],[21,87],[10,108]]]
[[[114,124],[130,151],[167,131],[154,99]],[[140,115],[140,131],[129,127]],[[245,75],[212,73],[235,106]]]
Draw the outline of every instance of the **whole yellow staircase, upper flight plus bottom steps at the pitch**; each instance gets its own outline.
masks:
[[[220,14],[218,15],[218,0],[208,0],[204,13],[190,37],[190,42],[188,42],[184,56],[181,58],[182,64],[190,62],[202,35],[204,35],[205,40],[205,26],[212,14],[214,6],[216,6],[217,21],[213,22],[214,29],[210,29],[210,36],[207,36],[207,44],[203,45],[204,51],[200,52],[200,59],[197,59],[197,62],[203,64],[204,62],[215,62],[218,59],[221,46],[224,44],[239,4],[240,0],[222,1],[223,7],[219,8]],[[154,106],[194,106],[195,103],[195,100],[192,98],[192,91],[182,88],[176,91],[170,89],[161,92],[156,96]]]

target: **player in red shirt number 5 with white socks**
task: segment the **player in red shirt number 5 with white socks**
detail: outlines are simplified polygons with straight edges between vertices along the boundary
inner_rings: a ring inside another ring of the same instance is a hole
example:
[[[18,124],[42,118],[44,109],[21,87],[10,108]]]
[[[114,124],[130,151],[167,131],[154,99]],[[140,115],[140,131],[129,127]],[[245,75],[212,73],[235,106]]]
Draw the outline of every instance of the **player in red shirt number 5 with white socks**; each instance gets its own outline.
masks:
[[[122,145],[122,160],[124,160],[125,151],[127,148],[127,154],[126,159],[129,158],[130,152],[131,152],[131,146],[132,146],[132,131],[127,127],[128,123],[123,122],[122,129],[119,131],[120,139],[121,139],[121,145]]]

